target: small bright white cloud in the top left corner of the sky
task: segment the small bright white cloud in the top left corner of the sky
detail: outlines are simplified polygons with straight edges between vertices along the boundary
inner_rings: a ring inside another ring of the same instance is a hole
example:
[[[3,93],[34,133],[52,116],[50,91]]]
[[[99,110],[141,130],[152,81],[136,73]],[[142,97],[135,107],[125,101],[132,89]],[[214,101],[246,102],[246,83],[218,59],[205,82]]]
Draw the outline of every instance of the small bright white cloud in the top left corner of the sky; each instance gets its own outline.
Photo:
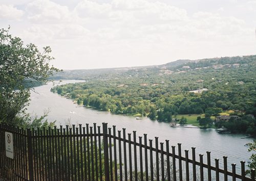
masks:
[[[23,16],[24,12],[18,10],[13,5],[0,5],[0,18],[18,20]]]

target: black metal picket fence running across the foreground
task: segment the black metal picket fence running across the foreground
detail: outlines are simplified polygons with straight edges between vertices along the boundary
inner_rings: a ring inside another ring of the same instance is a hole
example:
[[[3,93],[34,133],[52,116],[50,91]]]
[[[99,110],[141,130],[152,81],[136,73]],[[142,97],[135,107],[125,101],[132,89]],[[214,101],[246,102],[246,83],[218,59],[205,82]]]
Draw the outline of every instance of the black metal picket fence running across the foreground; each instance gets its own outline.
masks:
[[[255,180],[241,161],[228,170],[227,157],[211,163],[210,152],[199,154],[196,148],[184,152],[181,144],[169,146],[158,138],[126,134],[125,128],[103,128],[94,123],[86,127],[72,125],[37,130],[0,124],[0,177],[9,180]],[[6,157],[5,132],[13,134],[14,158]],[[137,140],[138,139],[138,140]],[[153,145],[154,144],[154,145]],[[185,157],[184,157],[185,155]]]

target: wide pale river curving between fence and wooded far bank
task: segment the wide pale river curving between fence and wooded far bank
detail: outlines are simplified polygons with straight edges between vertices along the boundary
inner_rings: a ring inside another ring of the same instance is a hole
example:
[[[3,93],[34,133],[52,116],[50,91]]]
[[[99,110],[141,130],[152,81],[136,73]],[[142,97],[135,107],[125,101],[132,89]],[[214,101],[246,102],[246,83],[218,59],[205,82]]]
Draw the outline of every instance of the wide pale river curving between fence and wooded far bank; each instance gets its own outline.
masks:
[[[63,81],[60,84],[76,82],[79,81]],[[126,133],[136,131],[137,136],[143,136],[146,133],[148,139],[154,139],[157,136],[159,142],[170,140],[170,145],[177,146],[177,143],[182,143],[182,150],[188,149],[189,154],[191,154],[191,147],[196,147],[197,155],[203,153],[205,157],[206,151],[211,151],[211,158],[220,159],[220,163],[222,163],[223,156],[228,156],[228,165],[236,163],[238,173],[240,173],[240,161],[248,161],[251,155],[244,145],[251,142],[252,138],[241,139],[245,135],[218,134],[215,129],[170,127],[165,122],[150,119],[136,120],[132,116],[96,111],[78,106],[72,99],[50,92],[51,87],[52,83],[49,83],[36,87],[37,93],[31,92],[28,113],[40,116],[45,110],[50,110],[48,120],[56,120],[57,125],[66,125],[68,121],[71,124],[81,123],[82,125],[86,123],[93,125],[94,122],[97,125],[102,125],[102,122],[107,122],[108,126],[116,125],[117,130],[126,128]],[[212,160],[212,164],[214,164],[214,160]]]

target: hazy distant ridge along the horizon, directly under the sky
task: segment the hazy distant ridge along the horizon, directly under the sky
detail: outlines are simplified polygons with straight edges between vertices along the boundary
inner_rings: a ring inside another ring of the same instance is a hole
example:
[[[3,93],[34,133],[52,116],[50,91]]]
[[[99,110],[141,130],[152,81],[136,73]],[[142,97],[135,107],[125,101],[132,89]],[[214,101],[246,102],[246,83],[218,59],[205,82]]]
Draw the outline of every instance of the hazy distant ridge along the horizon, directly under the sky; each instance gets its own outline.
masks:
[[[125,74],[127,72],[145,72],[158,73],[160,70],[169,71],[187,71],[201,68],[223,68],[236,66],[239,64],[246,66],[252,61],[255,62],[256,55],[236,56],[236,57],[220,57],[200,60],[177,60],[162,65],[140,66],[140,67],[120,67],[120,68],[102,68],[102,69],[80,69],[80,70],[64,70],[51,77],[54,80],[88,80],[101,79],[102,77],[113,77],[116,74]],[[255,63],[254,63],[255,64]],[[212,67],[215,66],[215,67]],[[178,70],[177,70],[178,69]],[[166,73],[166,72],[165,72]]]

